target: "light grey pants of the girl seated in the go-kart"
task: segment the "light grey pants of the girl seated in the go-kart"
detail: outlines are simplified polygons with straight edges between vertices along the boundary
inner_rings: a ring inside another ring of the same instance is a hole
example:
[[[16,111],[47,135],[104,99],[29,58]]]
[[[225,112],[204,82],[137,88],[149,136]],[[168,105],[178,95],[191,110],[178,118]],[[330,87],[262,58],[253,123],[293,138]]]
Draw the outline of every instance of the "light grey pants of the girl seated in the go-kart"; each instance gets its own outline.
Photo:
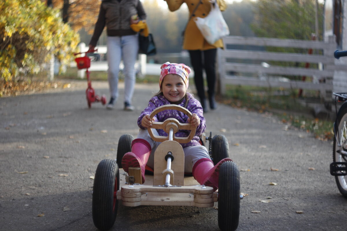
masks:
[[[155,129],[152,129],[152,132],[154,135],[159,135]],[[159,144],[161,144],[161,142],[156,142],[152,140],[147,129],[146,130],[140,129],[140,132],[137,135],[137,139],[144,139],[151,145],[152,151],[148,159],[147,165],[151,168],[154,168],[154,152],[156,148],[158,148]],[[186,147],[183,149],[183,152],[184,152],[184,172],[187,172],[187,173],[192,172],[193,166],[196,163],[196,161],[202,158],[211,159],[208,150],[206,149],[205,146],[202,146],[202,145]]]

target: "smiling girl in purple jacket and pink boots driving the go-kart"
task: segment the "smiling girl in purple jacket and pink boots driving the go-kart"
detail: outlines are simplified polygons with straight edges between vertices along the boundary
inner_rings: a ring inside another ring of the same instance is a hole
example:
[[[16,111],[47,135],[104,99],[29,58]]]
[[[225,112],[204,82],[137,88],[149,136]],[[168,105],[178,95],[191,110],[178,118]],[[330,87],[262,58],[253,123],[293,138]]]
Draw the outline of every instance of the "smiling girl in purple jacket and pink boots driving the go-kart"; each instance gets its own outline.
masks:
[[[221,160],[217,165],[213,165],[208,150],[200,143],[200,135],[206,129],[203,109],[200,102],[194,96],[187,92],[188,75],[191,72],[189,66],[185,64],[166,62],[161,65],[159,78],[160,91],[150,99],[148,106],[142,111],[137,119],[137,125],[141,128],[137,139],[132,142],[131,152],[124,155],[122,167],[128,172],[129,167],[141,167],[142,182],[145,181],[145,166],[154,167],[154,152],[160,142],[153,141],[147,128],[152,126],[152,122],[163,122],[168,118],[175,118],[180,123],[191,123],[196,127],[194,138],[189,143],[182,143],[184,151],[184,171],[192,173],[194,178],[201,185],[218,189],[219,167],[229,158]],[[177,110],[163,110],[156,114],[152,119],[150,114],[160,106],[167,104],[177,104],[185,107],[192,113],[192,119],[189,119],[183,112]],[[168,136],[161,130],[152,129],[154,135]],[[175,136],[186,137],[190,131],[179,130]]]

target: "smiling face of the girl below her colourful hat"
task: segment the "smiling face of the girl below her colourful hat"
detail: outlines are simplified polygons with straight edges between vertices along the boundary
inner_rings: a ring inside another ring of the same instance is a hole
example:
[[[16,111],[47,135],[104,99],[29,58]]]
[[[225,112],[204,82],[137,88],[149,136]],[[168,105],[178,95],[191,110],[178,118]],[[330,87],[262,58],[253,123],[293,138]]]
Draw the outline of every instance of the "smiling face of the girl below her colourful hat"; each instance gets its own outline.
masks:
[[[161,91],[167,100],[175,103],[186,95],[186,85],[179,75],[167,74],[163,79]]]

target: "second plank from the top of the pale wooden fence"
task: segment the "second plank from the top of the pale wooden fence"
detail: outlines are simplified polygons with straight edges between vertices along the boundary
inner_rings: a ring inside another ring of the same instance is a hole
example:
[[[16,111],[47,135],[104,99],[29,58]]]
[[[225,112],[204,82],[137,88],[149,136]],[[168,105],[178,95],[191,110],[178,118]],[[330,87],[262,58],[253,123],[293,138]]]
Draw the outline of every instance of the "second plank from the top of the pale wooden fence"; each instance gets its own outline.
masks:
[[[324,55],[309,55],[284,52],[265,52],[265,51],[245,51],[245,50],[224,50],[221,57],[233,59],[261,60],[261,61],[287,61],[303,63],[323,63],[333,64],[334,58]]]

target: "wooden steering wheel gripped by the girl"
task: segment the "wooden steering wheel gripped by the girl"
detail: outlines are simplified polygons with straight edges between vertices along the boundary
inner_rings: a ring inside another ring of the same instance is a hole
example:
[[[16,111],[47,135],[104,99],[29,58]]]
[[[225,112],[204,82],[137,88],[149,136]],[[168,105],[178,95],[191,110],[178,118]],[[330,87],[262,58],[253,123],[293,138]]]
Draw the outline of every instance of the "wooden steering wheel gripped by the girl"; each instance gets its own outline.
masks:
[[[183,112],[190,119],[192,119],[191,112],[189,112],[186,108],[176,104],[168,104],[168,105],[163,105],[163,106],[155,108],[153,112],[151,113],[150,118],[152,119],[156,114],[158,114],[159,112],[162,112],[163,110],[178,110],[179,112]],[[156,142],[164,142],[166,140],[169,140],[169,136],[154,135],[152,132],[152,128],[162,129],[168,134],[169,134],[170,128],[174,128],[173,140],[183,144],[189,143],[193,139],[196,132],[196,127],[192,126],[191,124],[183,124],[183,123],[180,123],[175,118],[168,118],[164,122],[152,122],[152,127],[147,128],[151,138]],[[177,137],[175,136],[175,133],[178,130],[191,130],[191,133],[189,133],[187,137]]]

